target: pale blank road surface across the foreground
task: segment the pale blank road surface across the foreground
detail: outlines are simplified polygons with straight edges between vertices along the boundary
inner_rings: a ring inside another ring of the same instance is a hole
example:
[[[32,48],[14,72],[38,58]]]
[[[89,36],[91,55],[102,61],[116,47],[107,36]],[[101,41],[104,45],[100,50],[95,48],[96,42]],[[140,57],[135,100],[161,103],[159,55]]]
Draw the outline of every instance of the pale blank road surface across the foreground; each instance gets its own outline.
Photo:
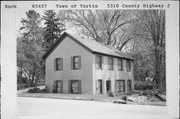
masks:
[[[17,114],[18,119],[165,119],[166,107],[18,97]]]

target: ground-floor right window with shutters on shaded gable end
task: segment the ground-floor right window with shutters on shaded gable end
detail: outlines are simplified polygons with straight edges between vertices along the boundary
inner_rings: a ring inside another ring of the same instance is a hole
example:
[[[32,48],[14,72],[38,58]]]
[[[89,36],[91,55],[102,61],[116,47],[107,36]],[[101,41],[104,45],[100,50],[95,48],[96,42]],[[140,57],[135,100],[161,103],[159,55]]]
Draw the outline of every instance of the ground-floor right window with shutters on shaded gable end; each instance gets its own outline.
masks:
[[[81,80],[69,80],[69,92],[74,94],[81,93]]]

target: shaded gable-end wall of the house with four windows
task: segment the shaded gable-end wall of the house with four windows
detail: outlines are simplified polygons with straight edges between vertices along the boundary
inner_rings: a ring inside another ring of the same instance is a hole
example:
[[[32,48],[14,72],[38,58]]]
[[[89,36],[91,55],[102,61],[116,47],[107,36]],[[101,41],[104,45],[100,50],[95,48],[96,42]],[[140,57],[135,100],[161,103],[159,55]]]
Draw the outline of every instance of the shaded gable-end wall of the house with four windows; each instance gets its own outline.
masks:
[[[69,36],[46,58],[46,86],[53,92],[92,93],[92,53]]]

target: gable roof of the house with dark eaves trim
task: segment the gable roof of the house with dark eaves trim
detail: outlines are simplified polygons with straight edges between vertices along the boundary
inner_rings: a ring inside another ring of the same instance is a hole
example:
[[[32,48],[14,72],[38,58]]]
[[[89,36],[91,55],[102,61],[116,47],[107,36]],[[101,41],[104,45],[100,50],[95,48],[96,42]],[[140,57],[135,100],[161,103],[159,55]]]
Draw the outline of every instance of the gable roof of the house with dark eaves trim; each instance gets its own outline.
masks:
[[[102,55],[107,55],[107,56],[113,56],[113,57],[119,57],[119,58],[124,58],[124,59],[130,59],[133,60],[132,57],[116,50],[110,47],[107,47],[101,43],[98,43],[93,40],[89,39],[83,39],[79,37],[78,35],[70,34],[67,32],[64,32],[60,39],[58,39],[54,45],[43,55],[43,59],[46,59],[55,49],[56,47],[64,40],[64,38],[68,36],[70,37],[73,41],[84,47],[86,50],[92,53],[97,53],[97,54],[102,54]]]

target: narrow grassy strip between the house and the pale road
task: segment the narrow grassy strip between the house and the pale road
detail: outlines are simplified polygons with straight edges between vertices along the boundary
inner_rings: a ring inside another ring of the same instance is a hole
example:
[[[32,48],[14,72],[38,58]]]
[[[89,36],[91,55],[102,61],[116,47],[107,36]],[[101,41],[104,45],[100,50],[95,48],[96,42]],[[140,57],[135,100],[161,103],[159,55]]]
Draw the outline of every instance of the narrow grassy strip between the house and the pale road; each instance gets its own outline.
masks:
[[[19,97],[35,97],[35,98],[53,98],[53,99],[68,99],[68,100],[88,100],[88,101],[101,101],[110,102],[123,101],[121,96],[109,97],[108,95],[92,95],[92,94],[59,94],[59,93],[21,93]],[[156,105],[165,106],[166,102],[160,101],[157,97],[152,96],[144,103],[126,101],[127,104],[138,104],[138,105]]]

